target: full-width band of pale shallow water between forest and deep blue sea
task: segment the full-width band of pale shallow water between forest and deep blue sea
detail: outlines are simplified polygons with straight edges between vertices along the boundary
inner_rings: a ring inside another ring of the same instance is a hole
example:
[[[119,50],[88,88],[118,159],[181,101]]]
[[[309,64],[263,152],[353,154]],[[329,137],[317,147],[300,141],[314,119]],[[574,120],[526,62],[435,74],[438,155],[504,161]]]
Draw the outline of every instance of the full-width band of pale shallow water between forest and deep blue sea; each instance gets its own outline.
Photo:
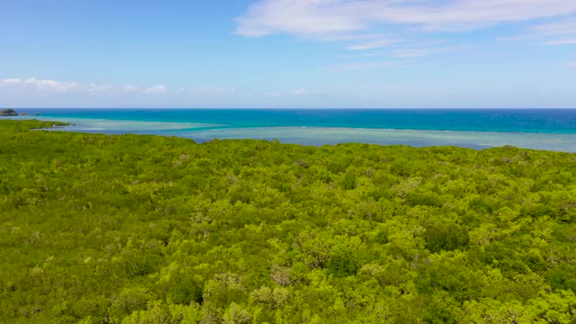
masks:
[[[314,126],[238,127],[227,124],[175,121],[130,121],[52,116],[7,117],[13,120],[62,121],[72,125],[54,131],[104,134],[175,136],[198,142],[212,139],[278,139],[284,143],[322,146],[340,143],[408,145],[412,147],[456,146],[463,148],[518,148],[576,152],[576,134],[505,131],[402,130]]]

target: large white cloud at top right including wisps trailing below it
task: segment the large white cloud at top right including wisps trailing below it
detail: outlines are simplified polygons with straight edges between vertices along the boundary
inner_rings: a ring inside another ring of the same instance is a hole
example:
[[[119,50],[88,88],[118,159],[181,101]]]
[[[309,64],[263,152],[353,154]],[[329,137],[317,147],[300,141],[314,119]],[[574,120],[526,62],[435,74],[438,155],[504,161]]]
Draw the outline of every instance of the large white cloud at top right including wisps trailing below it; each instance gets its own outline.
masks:
[[[419,35],[430,31],[437,37],[437,31],[472,31],[544,20],[552,23],[535,26],[529,35],[500,40],[572,44],[576,39],[576,0],[259,0],[236,19],[235,33],[338,41],[350,50],[388,48],[393,51],[392,58],[409,58],[444,51],[419,49]],[[399,45],[416,49],[398,49]]]

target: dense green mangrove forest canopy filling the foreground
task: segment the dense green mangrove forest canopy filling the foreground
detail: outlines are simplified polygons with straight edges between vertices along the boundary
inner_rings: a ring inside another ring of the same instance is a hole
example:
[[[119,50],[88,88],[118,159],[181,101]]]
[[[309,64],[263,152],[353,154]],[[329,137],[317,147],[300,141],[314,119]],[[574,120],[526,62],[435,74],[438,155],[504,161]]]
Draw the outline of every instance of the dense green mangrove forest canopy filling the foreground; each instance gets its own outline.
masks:
[[[573,323],[576,155],[0,121],[1,323]]]

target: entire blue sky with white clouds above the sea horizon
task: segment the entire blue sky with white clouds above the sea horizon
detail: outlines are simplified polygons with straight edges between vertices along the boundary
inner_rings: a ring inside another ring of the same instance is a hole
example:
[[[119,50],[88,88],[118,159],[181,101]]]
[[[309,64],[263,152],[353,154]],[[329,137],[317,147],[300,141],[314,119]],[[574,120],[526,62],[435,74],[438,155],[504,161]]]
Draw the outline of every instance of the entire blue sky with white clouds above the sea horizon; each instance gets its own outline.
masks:
[[[576,108],[576,0],[2,0],[0,107]]]

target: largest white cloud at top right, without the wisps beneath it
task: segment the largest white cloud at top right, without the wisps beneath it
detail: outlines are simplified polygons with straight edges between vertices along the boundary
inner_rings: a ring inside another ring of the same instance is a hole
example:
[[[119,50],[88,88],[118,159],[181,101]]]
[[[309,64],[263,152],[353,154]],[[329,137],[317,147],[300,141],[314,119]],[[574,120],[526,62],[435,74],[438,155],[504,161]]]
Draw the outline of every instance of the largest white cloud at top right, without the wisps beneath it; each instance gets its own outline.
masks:
[[[573,0],[261,0],[237,18],[236,33],[329,36],[401,25],[463,31],[576,14]]]

